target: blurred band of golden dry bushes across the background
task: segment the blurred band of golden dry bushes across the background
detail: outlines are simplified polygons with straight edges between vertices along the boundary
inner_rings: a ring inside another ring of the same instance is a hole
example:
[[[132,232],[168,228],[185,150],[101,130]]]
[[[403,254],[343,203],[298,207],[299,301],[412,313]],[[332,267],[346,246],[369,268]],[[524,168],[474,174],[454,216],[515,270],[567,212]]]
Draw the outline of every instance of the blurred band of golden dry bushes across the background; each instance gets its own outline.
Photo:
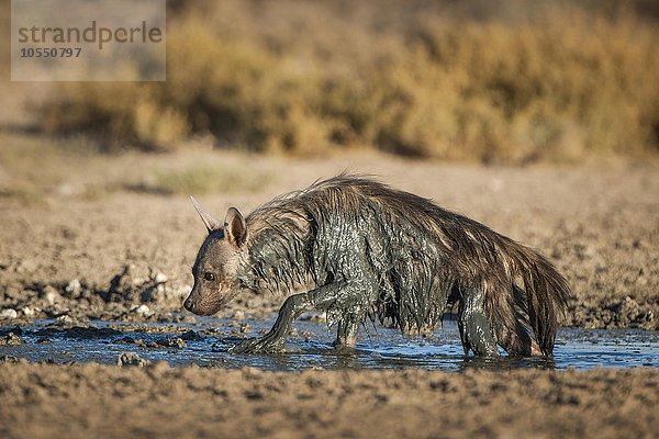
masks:
[[[375,148],[526,164],[659,153],[654,1],[170,0],[167,81],[62,83],[103,151]]]

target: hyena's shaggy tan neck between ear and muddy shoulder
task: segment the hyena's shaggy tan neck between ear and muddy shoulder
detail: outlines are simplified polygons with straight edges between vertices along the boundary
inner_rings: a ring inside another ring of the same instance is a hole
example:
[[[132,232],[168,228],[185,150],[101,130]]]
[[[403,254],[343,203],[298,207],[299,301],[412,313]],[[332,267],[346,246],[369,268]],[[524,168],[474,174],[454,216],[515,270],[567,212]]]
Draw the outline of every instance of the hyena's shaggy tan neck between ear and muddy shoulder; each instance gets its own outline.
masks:
[[[244,263],[238,269],[241,281],[253,291],[276,293],[309,284],[312,240],[309,224],[272,215],[259,217],[255,213],[248,218],[250,235],[245,243]]]

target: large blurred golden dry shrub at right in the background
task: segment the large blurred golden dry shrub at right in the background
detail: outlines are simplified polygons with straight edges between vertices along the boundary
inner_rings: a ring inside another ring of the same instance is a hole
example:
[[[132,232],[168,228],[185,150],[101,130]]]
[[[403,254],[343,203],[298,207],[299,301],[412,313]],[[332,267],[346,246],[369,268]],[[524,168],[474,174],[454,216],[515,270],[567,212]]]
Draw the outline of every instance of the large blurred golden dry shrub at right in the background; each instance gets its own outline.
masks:
[[[659,38],[632,18],[431,23],[420,36],[425,49],[393,69],[406,105],[388,135],[404,150],[520,161],[657,147]]]

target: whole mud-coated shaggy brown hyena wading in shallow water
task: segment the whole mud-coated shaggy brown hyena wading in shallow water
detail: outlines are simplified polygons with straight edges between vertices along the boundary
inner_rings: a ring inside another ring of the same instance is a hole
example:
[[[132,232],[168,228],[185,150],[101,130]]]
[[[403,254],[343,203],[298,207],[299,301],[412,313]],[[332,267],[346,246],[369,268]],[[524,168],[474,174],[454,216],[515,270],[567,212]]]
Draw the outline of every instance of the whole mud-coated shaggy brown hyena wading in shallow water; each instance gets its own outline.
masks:
[[[458,306],[465,353],[550,356],[570,289],[533,249],[431,200],[340,175],[224,223],[196,201],[209,235],[185,307],[216,313],[242,291],[289,296],[272,329],[236,351],[280,350],[291,324],[326,311],[336,347],[354,348],[365,318],[403,331],[436,325]]]

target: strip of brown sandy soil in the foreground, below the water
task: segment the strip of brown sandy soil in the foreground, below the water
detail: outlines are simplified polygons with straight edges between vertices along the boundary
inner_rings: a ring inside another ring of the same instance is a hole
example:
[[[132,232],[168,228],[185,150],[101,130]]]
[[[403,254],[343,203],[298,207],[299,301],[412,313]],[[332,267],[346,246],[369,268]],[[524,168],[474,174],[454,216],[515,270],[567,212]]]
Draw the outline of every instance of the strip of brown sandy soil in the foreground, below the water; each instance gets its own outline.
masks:
[[[656,370],[272,373],[0,364],[0,436],[652,438]]]

